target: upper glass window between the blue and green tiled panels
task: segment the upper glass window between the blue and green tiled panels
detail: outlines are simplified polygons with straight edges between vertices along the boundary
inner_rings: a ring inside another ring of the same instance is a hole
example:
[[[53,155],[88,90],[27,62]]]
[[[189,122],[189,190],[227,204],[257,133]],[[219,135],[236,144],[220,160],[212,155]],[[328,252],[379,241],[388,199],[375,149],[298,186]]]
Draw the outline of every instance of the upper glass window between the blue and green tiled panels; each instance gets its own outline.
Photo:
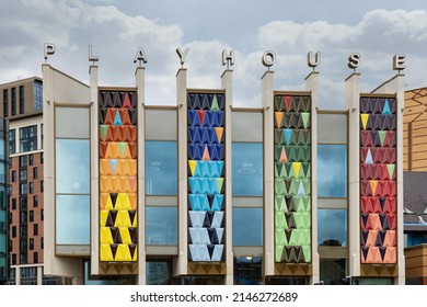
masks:
[[[233,143],[233,195],[263,195],[263,144]]]

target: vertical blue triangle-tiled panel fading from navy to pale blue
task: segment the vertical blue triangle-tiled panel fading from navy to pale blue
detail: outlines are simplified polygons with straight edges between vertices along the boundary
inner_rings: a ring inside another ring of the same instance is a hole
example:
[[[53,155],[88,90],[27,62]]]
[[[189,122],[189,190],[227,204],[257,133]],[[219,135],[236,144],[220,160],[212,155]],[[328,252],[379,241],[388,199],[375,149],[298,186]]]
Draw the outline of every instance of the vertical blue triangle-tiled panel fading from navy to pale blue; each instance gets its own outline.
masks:
[[[188,93],[189,261],[224,258],[224,94]]]

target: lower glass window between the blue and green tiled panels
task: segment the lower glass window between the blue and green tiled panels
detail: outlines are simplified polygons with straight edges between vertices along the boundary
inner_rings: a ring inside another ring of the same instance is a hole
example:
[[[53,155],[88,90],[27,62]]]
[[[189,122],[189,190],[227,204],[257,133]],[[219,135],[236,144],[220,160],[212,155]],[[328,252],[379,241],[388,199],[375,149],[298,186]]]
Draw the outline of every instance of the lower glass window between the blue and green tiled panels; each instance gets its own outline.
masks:
[[[263,246],[262,208],[233,208],[233,246]]]

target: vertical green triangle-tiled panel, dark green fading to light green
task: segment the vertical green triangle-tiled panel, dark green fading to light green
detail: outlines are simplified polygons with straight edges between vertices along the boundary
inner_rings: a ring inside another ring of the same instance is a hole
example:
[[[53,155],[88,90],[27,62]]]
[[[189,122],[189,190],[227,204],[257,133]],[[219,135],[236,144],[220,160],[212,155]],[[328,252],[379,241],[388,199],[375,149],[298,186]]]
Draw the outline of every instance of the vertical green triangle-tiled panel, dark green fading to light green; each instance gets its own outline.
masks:
[[[275,95],[276,262],[311,262],[311,98]]]

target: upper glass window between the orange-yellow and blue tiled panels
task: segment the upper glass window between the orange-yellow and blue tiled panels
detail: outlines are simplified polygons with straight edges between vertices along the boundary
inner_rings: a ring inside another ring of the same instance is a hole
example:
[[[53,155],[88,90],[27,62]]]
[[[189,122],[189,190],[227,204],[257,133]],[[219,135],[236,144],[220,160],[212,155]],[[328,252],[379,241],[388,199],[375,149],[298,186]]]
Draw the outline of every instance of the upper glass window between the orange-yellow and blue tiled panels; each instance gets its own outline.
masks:
[[[176,141],[146,141],[146,194],[177,194]]]

